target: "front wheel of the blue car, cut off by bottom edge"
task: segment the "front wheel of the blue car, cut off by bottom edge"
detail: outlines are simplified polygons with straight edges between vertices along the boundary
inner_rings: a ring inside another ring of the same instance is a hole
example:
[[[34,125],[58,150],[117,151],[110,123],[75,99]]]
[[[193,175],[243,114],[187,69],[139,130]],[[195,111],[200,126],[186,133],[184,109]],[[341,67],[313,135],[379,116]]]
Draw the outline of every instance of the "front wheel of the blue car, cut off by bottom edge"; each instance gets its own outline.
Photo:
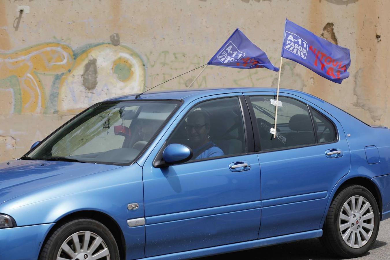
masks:
[[[50,235],[40,260],[119,260],[115,238],[106,226],[94,219],[66,222]]]

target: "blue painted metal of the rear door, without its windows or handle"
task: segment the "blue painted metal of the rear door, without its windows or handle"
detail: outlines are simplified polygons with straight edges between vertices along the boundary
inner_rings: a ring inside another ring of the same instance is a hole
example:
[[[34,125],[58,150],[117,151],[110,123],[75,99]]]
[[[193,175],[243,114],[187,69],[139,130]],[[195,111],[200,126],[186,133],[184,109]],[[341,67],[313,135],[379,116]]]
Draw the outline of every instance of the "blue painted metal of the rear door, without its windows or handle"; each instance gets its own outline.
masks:
[[[244,93],[248,96],[273,94]],[[297,99],[323,113],[335,124],[338,138],[330,143],[257,153],[261,168],[263,202],[259,238],[320,228],[329,200],[328,195],[335,183],[347,175],[351,164],[346,135],[342,125],[332,115],[295,95],[281,92],[279,97],[281,96]],[[341,150],[342,156],[327,157],[326,151],[329,149]],[[271,200],[274,205],[267,205]]]

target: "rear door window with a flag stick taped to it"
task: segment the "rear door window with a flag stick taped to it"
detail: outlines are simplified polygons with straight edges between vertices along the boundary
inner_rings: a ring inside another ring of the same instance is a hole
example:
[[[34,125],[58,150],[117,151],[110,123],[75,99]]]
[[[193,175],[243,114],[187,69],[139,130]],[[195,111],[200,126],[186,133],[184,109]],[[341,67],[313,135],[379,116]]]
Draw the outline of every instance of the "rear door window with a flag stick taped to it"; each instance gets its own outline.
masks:
[[[275,124],[274,96],[251,96],[262,150],[288,148],[316,143],[313,124],[306,104],[279,97],[277,138],[270,133]]]

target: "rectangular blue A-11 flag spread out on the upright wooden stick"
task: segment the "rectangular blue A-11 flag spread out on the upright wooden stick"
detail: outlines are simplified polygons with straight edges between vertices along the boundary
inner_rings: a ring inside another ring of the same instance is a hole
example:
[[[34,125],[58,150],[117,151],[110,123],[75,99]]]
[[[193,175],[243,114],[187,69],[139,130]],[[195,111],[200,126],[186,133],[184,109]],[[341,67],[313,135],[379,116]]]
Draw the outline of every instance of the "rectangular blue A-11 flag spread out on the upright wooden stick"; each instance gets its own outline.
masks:
[[[311,69],[328,80],[341,84],[349,77],[349,49],[314,35],[286,19],[282,57]]]

